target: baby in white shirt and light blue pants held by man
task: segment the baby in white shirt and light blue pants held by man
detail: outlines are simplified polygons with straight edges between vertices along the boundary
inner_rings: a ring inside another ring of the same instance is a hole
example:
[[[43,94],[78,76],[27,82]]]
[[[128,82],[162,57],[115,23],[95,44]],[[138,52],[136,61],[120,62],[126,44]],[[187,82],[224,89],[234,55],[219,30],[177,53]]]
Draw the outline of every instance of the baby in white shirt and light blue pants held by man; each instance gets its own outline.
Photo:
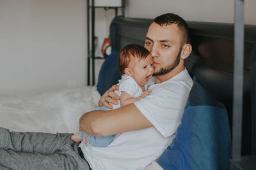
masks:
[[[122,79],[118,81],[119,90],[115,91],[120,96],[120,101],[117,105],[113,105],[113,109],[134,103],[148,96],[151,90],[147,90],[147,83],[154,72],[152,56],[141,45],[125,46],[118,53],[117,60]],[[108,108],[102,106],[96,108],[96,110],[108,110]],[[84,136],[90,145],[97,147],[108,146],[115,138],[115,135],[90,136],[86,132],[84,132]],[[83,139],[83,131],[74,134],[71,139],[79,144]]]

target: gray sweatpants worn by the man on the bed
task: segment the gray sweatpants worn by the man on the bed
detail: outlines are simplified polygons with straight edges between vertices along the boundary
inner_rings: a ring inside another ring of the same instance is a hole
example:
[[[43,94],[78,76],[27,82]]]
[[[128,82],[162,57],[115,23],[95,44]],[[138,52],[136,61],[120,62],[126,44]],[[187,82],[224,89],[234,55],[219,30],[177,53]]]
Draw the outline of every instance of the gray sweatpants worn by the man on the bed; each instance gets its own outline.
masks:
[[[0,169],[89,169],[71,135],[0,127]]]

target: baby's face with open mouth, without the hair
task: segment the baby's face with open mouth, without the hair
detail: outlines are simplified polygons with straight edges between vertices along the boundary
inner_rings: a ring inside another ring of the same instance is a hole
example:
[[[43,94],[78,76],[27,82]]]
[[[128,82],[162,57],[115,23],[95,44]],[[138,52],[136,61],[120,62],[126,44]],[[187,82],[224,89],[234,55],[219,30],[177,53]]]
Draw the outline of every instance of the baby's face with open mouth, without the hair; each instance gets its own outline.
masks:
[[[140,86],[144,86],[154,73],[152,55],[149,54],[146,59],[134,59],[130,64],[132,70],[132,78]]]

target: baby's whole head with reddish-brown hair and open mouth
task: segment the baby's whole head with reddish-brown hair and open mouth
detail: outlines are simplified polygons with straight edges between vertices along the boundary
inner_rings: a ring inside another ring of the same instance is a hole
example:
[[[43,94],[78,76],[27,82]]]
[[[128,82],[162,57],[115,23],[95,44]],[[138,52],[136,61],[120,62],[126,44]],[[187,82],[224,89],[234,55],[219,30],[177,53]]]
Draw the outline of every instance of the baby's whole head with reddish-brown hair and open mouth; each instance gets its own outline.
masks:
[[[131,76],[139,85],[145,85],[151,78],[153,60],[150,52],[141,45],[126,45],[117,57],[120,73]]]

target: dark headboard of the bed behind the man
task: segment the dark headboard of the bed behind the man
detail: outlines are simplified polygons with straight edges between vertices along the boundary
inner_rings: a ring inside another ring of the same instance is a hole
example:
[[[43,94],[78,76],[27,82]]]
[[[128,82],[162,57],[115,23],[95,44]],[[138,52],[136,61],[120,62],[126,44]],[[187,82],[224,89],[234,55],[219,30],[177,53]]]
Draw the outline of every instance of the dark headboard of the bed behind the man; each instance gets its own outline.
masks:
[[[129,43],[143,45],[151,22],[143,18],[114,18],[110,27],[112,49],[118,51]],[[234,24],[188,21],[188,25],[193,52],[185,60],[186,68],[205,89],[225,104],[232,129]],[[245,25],[244,30],[242,154],[249,154],[256,152],[256,25]]]

